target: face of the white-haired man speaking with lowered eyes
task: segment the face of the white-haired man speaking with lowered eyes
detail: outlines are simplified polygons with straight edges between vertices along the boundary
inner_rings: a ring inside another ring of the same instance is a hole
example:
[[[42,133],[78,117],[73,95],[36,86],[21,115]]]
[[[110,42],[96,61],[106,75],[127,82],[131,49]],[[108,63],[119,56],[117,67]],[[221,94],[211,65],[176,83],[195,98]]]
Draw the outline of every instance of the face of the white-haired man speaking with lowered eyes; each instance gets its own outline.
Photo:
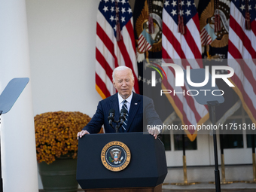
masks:
[[[114,88],[123,99],[126,99],[132,94],[134,80],[129,69],[114,72]]]

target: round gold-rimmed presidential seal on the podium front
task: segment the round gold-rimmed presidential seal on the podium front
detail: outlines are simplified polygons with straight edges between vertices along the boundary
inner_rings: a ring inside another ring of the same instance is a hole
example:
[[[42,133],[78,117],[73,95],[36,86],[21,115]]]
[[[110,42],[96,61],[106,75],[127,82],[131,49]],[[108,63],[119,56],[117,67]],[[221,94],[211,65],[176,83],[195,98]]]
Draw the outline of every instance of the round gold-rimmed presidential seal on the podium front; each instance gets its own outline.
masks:
[[[125,169],[129,165],[130,159],[130,149],[123,142],[109,142],[102,148],[102,164],[112,172]]]

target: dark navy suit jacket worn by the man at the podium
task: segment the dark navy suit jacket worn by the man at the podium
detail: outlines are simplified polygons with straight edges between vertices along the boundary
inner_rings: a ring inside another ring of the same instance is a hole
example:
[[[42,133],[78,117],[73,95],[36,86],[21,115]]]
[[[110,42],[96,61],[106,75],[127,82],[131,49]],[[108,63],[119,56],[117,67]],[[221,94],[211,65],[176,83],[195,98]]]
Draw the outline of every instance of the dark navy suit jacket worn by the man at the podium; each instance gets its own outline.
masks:
[[[87,130],[89,133],[99,133],[104,124],[105,133],[115,133],[115,130],[108,124],[108,112],[113,108],[115,111],[114,120],[119,119],[120,110],[117,94],[99,102],[96,114],[93,115],[92,120],[90,120],[87,126],[84,126],[83,130]],[[116,123],[113,123],[114,127],[115,125]],[[146,127],[147,125],[162,125],[162,121],[154,110],[152,99],[133,93],[126,132],[142,132],[143,126]],[[123,131],[123,128],[120,127],[119,132]]]

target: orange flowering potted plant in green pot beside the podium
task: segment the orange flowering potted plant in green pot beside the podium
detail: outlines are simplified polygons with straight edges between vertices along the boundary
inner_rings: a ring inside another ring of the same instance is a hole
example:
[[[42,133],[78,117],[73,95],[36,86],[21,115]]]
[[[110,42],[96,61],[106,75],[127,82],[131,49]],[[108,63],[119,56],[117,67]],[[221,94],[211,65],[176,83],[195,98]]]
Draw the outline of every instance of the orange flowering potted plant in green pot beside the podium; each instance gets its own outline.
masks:
[[[81,112],[47,112],[34,117],[35,144],[44,191],[77,191],[77,133],[90,121]]]

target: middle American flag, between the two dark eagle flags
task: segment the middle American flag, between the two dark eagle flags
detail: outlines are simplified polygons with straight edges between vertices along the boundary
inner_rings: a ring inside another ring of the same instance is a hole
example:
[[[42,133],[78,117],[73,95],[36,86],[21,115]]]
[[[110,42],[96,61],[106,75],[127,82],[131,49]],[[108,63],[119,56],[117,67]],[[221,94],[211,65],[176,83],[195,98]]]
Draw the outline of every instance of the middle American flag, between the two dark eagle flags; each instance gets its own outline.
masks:
[[[184,35],[178,32],[178,13],[182,14],[184,19]],[[199,25],[197,8],[193,0],[165,1],[162,36],[163,60],[178,64],[183,69],[186,69],[186,66],[190,66],[190,69],[203,68]],[[175,75],[172,68],[167,69],[166,73],[168,81],[163,81],[163,88],[172,90],[169,101],[178,117],[181,118],[181,122],[184,125],[204,123],[209,118],[208,108],[197,103],[192,96],[186,94],[173,96],[173,90],[179,93],[184,90],[186,93],[189,89],[188,87],[175,87]],[[195,130],[187,130],[186,133],[191,141],[197,137]]]

